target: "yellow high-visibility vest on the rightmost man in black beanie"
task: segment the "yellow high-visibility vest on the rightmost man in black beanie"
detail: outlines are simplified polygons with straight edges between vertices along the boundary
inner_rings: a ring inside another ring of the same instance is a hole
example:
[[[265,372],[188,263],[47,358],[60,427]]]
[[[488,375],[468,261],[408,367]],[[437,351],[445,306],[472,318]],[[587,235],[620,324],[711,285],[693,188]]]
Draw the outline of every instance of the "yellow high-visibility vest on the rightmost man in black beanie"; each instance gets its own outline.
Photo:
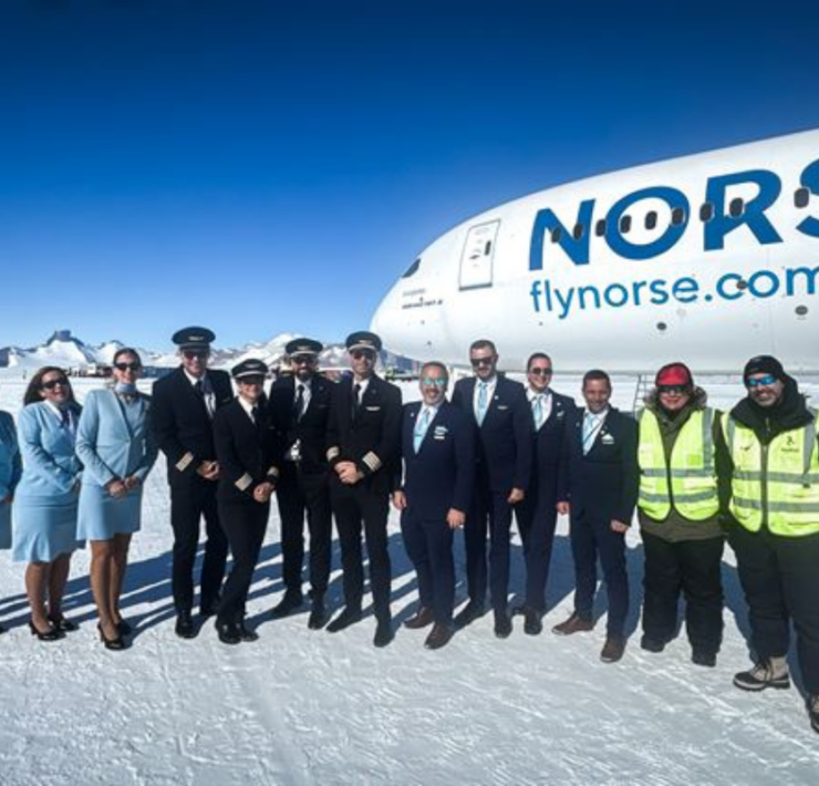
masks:
[[[819,416],[778,434],[768,445],[733,417],[723,422],[734,459],[730,511],[751,532],[765,526],[775,535],[819,532]]]

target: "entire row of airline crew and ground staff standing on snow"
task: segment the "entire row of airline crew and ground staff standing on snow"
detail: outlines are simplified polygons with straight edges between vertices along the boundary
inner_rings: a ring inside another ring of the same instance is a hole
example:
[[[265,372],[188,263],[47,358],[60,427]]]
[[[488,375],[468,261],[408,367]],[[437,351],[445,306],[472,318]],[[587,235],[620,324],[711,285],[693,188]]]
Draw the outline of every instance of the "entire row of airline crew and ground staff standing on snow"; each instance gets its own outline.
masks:
[[[142,483],[160,449],[170,487],[175,631],[182,638],[196,637],[200,621],[212,616],[226,644],[258,638],[245,623],[246,602],[276,495],[284,593],[273,617],[304,606],[307,525],[309,628],[336,633],[361,621],[363,536],[373,643],[387,645],[394,635],[392,501],[418,585],[417,609],[404,625],[429,627],[426,648],[445,647],[455,631],[484,616],[487,593],[498,638],[511,634],[516,614],[525,633],[541,633],[560,514],[570,521],[576,592],[572,613],[552,631],[571,635],[594,628],[600,563],[609,606],[601,659],[613,663],[626,643],[625,532],[636,509],[645,559],[642,649],[660,653],[674,638],[683,596],[692,661],[716,664],[727,538],[756,654],[734,684],[746,691],[790,685],[792,622],[808,713],[819,732],[819,420],[775,358],[748,361],[747,395],[727,413],[708,406],[685,364],[670,363],[632,417],[610,405],[604,371],[584,375],[578,406],[551,390],[548,354],[529,358],[521,384],[498,373],[489,340],[469,348],[474,375],[457,381],[450,400],[448,369],[432,361],[421,369],[421,401],[402,405],[400,389],[375,373],[382,345],[369,331],[348,338],[351,373],[338,384],[319,373],[322,345],[296,339],[286,348],[291,375],[266,394],[267,365],[246,360],[232,369],[234,395],[230,376],[208,369],[214,339],[204,328],[178,331],[173,340],[182,364],[155,383],[151,399],[136,391],[141,361],[131,349],[114,358],[114,385],[90,393],[84,408],[60,369],[40,370],[19,417],[19,447],[11,418],[0,413],[0,547],[11,544],[14,559],[29,562],[30,625],[40,639],[75,628],[61,601],[71,554],[87,539],[100,637],[108,649],[126,647],[131,625],[118,599],[129,539],[139,526]],[[203,518],[207,539],[195,617]],[[333,518],[344,606],[330,619],[324,596]],[[523,602],[515,608],[512,519],[526,567]],[[469,598],[455,614],[458,529]],[[228,552],[232,567],[224,580]]]

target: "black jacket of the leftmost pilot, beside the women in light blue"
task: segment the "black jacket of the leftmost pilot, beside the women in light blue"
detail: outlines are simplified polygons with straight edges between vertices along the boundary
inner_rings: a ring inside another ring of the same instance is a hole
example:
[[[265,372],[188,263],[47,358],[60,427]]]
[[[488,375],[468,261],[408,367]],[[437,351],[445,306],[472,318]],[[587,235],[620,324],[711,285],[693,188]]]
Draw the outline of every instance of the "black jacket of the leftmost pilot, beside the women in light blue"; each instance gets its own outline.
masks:
[[[207,375],[217,410],[229,404],[234,387],[228,373],[208,370]],[[216,459],[214,428],[205,400],[182,366],[154,383],[152,417],[156,442],[167,457],[168,483],[185,487],[199,480],[197,467]]]

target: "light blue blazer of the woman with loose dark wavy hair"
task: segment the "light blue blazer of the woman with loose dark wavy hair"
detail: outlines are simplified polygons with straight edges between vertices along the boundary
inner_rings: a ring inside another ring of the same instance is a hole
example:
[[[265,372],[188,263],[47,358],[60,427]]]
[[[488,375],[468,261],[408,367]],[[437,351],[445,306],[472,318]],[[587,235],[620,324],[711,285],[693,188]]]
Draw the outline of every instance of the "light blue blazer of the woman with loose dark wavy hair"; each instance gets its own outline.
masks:
[[[74,423],[80,405],[72,407]],[[74,436],[60,416],[45,403],[24,406],[17,422],[23,475],[14,498],[44,497],[53,505],[76,501],[72,489],[82,474],[82,464],[74,453]]]

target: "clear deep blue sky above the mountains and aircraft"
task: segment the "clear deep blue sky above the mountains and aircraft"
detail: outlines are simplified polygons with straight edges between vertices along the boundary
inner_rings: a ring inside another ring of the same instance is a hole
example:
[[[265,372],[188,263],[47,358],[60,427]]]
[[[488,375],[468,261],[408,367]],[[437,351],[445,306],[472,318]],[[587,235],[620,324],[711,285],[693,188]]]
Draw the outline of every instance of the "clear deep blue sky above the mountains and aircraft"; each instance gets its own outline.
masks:
[[[819,127],[810,9],[3,0],[0,347],[343,339],[475,213]]]

